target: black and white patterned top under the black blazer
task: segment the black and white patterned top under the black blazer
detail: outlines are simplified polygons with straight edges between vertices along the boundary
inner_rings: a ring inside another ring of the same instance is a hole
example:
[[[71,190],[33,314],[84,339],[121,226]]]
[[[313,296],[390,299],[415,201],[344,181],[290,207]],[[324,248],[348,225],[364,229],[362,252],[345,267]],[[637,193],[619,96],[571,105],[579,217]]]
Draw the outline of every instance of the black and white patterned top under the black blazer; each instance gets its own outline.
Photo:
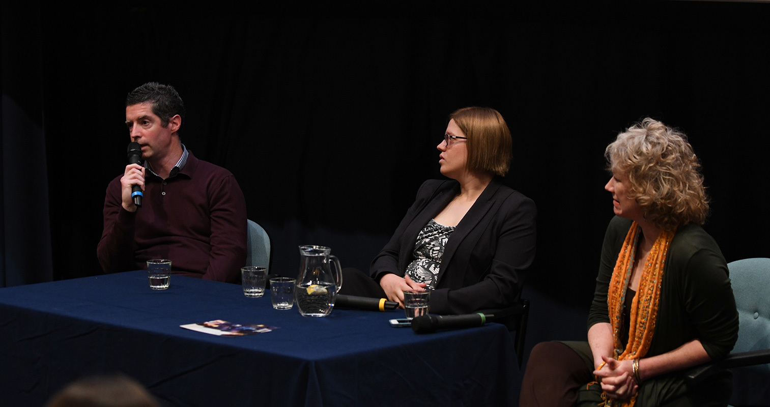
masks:
[[[441,256],[454,226],[444,226],[433,219],[417,234],[412,253],[414,260],[407,265],[407,275],[415,282],[424,282],[426,289],[435,289],[438,283],[438,269]]]

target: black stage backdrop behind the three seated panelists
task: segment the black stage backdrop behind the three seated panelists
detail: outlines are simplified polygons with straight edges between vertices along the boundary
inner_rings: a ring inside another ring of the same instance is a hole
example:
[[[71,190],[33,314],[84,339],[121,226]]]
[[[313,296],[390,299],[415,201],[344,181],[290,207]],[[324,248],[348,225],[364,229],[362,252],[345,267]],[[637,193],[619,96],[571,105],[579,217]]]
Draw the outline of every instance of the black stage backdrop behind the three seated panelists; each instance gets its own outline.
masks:
[[[228,168],[272,270],[300,244],[367,269],[427,178],[447,115],[497,108],[507,185],[537,203],[528,345],[584,338],[604,228],[604,147],[646,116],[704,167],[705,228],[729,261],[770,257],[770,5],[350,10],[2,4],[2,285],[101,272],[123,102],[144,82],[186,102],[182,142]]]

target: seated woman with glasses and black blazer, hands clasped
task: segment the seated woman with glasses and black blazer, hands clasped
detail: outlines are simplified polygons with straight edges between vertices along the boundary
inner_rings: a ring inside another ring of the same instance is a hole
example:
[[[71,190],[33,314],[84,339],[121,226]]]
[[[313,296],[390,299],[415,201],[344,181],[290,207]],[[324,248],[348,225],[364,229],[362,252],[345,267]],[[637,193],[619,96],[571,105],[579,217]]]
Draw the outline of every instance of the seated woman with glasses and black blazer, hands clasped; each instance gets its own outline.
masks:
[[[387,297],[430,290],[430,312],[464,314],[513,305],[534,259],[534,202],[503,185],[511,132],[492,108],[450,115],[437,145],[441,174],[417,191],[370,275],[346,269],[341,293]]]

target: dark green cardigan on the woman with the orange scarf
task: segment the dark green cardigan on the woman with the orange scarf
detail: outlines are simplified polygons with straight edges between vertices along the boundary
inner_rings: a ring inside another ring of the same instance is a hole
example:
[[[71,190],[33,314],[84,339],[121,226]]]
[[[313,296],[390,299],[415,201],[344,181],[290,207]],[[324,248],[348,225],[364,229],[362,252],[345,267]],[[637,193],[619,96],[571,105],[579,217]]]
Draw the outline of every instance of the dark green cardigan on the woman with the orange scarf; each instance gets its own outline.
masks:
[[[631,221],[615,216],[601,248],[588,328],[610,322],[607,293]],[[658,321],[645,357],[700,339],[711,359],[722,359],[738,339],[738,310],[719,246],[698,225],[681,226],[671,241],[661,285]]]

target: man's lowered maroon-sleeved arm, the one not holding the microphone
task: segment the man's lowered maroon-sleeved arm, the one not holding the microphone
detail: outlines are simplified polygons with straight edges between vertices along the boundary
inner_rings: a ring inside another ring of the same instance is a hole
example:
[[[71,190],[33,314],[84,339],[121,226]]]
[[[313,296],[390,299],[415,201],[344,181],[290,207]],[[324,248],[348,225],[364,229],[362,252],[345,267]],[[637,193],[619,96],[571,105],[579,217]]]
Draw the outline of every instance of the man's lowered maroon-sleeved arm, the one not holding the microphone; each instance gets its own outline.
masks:
[[[246,200],[233,175],[209,192],[211,253],[203,279],[238,282],[246,265]]]

